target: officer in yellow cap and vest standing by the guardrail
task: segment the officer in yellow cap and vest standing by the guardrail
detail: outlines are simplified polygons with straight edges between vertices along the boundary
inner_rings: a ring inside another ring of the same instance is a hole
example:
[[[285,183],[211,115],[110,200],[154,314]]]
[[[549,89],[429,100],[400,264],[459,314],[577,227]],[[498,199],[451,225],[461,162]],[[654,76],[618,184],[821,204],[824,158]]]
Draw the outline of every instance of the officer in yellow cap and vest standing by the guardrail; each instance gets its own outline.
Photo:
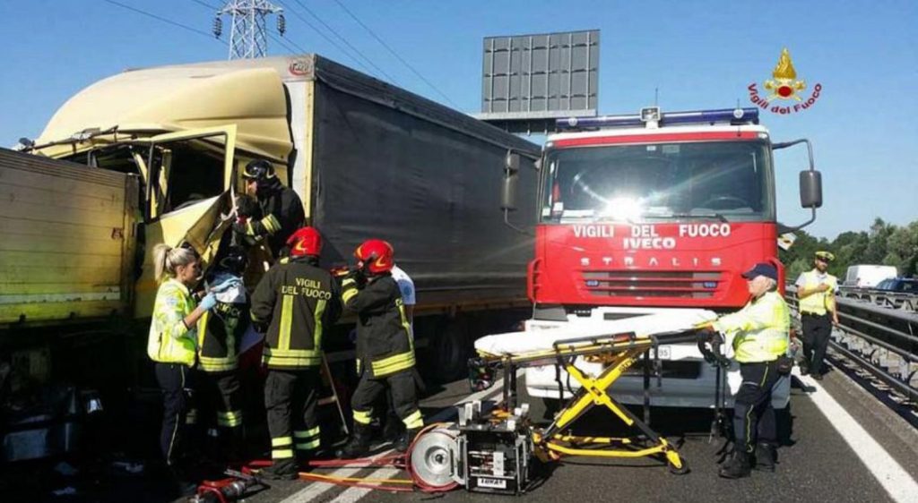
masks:
[[[797,279],[797,298],[800,299],[800,323],[803,325],[803,357],[805,365],[800,368],[804,376],[812,374],[816,380],[823,379],[823,358],[829,346],[832,325],[838,324],[835,309],[835,292],[838,279],[826,272],[835,256],[827,251],[816,252],[812,270],[800,274]]]

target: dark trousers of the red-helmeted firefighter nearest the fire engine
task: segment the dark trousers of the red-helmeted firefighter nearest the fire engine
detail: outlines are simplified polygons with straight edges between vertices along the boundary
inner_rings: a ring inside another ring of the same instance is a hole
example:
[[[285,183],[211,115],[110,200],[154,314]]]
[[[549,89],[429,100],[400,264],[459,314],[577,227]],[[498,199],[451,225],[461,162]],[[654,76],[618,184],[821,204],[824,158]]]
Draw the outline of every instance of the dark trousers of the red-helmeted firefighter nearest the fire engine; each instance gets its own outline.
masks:
[[[371,377],[370,372],[364,370],[351,397],[353,421],[369,424],[373,419],[373,404],[386,388],[392,394],[392,407],[405,426],[409,430],[422,427],[424,418],[418,409],[418,391],[411,369],[379,378]]]

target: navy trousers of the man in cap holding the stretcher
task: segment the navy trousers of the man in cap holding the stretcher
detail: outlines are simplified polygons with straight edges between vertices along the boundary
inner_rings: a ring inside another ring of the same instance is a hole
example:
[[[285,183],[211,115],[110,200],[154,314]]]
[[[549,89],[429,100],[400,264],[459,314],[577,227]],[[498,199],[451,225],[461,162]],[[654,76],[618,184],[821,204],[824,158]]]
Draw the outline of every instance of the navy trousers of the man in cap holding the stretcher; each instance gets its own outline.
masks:
[[[777,442],[775,410],[771,407],[771,389],[780,375],[778,362],[741,363],[743,383],[733,404],[733,434],[735,449],[752,453],[756,442]]]

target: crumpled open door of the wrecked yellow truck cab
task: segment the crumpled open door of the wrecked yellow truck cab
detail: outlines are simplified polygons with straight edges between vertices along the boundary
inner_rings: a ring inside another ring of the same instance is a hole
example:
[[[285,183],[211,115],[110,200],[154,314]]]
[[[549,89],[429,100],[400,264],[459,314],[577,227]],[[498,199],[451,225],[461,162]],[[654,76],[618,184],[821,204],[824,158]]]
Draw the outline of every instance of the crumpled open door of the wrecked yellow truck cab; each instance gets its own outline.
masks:
[[[150,316],[158,285],[152,249],[159,243],[193,246],[207,263],[229,227],[235,176],[236,126],[207,127],[142,140],[146,176],[143,266],[135,288],[135,317]]]

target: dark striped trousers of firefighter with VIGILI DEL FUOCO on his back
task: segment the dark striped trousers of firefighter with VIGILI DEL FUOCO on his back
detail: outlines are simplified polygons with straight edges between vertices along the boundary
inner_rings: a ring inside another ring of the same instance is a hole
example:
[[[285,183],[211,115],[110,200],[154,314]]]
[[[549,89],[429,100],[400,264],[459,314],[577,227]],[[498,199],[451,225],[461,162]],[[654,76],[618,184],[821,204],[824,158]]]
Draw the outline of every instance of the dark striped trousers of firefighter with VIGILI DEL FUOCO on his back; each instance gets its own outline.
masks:
[[[268,413],[272,459],[308,457],[319,449],[319,367],[268,369],[264,408]]]

